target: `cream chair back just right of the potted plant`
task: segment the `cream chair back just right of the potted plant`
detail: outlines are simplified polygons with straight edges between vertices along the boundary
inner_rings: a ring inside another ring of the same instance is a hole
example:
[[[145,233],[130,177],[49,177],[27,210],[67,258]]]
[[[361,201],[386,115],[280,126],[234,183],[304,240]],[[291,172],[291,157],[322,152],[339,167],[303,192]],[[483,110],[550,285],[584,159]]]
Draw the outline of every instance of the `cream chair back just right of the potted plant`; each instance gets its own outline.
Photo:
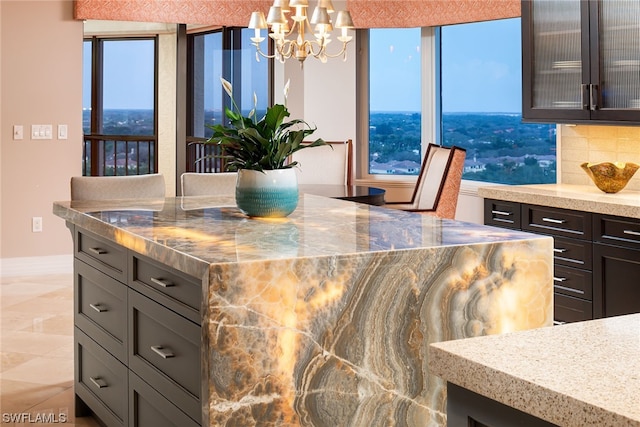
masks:
[[[353,144],[350,139],[296,151],[298,184],[353,185]]]

